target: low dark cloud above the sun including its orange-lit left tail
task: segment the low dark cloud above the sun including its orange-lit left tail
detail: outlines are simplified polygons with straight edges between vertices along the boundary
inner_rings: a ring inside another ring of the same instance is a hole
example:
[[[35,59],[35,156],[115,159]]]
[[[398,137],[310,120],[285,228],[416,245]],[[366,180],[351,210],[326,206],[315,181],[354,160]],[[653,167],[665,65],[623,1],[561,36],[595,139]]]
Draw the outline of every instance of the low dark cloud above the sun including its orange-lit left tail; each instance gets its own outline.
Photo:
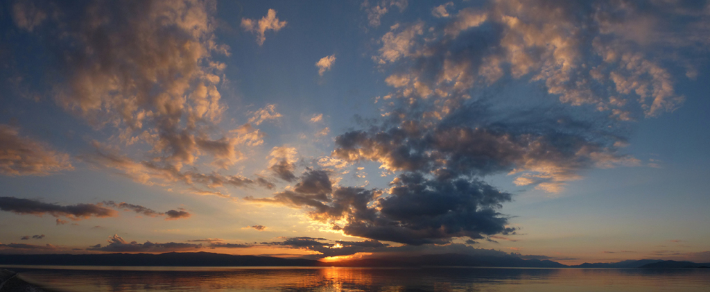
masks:
[[[345,234],[405,244],[514,232],[496,212],[510,194],[470,178],[435,180],[405,173],[393,181],[388,196],[382,196],[380,190],[364,188],[332,190],[326,172],[306,171],[296,186],[273,198],[245,199],[304,207],[314,220],[346,219],[343,227],[334,225]]]

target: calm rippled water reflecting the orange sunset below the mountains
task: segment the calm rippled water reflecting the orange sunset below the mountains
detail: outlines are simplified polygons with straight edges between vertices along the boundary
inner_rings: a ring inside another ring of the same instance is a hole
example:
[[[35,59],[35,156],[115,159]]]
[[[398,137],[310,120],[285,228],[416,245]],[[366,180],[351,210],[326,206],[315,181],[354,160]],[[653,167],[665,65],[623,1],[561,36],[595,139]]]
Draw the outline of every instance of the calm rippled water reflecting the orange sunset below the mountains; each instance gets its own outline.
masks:
[[[710,291],[708,269],[8,266],[59,291]]]

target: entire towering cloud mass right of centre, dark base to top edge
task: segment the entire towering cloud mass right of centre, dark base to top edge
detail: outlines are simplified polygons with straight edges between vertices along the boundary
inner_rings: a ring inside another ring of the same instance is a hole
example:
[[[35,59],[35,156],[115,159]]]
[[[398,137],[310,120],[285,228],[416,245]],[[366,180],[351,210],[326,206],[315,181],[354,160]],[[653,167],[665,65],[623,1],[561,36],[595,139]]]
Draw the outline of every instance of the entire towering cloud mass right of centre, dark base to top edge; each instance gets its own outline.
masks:
[[[393,87],[390,102],[366,129],[337,136],[332,151],[347,163],[378,163],[394,176],[388,188],[334,186],[320,170],[295,180],[290,168],[295,188],[245,199],[305,210],[350,236],[447,244],[515,234],[498,212],[512,195],[485,183],[490,175],[560,193],[586,169],[639,166],[622,151],[628,140],[622,112],[652,117],[680,99],[669,71],[633,46],[613,47],[620,55],[608,58],[607,47],[589,49],[611,36],[582,25],[594,19],[585,13],[607,9],[578,7],[586,3],[496,1],[451,12],[437,26],[391,26],[373,56]],[[633,80],[618,86],[616,74]],[[557,100],[488,87],[521,81],[540,84],[539,94]],[[663,106],[654,109],[650,99]]]

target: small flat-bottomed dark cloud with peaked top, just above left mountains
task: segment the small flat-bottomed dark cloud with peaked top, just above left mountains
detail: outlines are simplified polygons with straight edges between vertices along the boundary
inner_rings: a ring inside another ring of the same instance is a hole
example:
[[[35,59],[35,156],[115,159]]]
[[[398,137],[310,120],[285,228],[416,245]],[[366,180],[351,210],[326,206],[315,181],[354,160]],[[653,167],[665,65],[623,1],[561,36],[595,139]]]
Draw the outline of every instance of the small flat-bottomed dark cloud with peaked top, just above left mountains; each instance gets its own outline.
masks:
[[[184,252],[195,251],[202,248],[202,244],[187,244],[178,242],[153,243],[126,242],[117,234],[109,237],[109,244],[102,247],[101,244],[89,247],[89,250],[100,252]]]

